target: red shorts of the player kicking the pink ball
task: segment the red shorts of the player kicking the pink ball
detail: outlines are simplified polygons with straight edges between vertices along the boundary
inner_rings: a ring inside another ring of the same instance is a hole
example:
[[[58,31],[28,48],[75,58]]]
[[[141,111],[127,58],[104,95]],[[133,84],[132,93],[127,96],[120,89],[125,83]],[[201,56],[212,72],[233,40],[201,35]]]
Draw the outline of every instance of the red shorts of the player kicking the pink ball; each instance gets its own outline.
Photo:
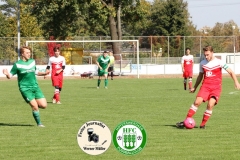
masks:
[[[202,85],[198,91],[197,97],[202,97],[203,101],[208,101],[211,97],[216,98],[216,103],[218,103],[220,95],[222,92],[221,85]]]

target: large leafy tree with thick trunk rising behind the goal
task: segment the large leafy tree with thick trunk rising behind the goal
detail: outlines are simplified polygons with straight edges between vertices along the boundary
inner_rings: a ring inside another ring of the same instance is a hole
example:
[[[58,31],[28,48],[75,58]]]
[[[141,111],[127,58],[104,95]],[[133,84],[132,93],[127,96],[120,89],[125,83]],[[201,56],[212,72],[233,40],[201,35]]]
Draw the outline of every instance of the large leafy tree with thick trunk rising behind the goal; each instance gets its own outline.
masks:
[[[110,33],[112,40],[121,40],[122,17],[125,16],[127,19],[136,16],[135,21],[139,21],[145,12],[125,9],[134,2],[139,6],[140,0],[24,0],[24,2],[31,7],[32,14],[38,17],[44,36],[48,38],[54,36],[56,39],[81,34],[80,28],[86,27],[84,31],[93,30],[88,33],[96,35]],[[119,53],[117,43],[113,43],[113,51],[114,54]]]

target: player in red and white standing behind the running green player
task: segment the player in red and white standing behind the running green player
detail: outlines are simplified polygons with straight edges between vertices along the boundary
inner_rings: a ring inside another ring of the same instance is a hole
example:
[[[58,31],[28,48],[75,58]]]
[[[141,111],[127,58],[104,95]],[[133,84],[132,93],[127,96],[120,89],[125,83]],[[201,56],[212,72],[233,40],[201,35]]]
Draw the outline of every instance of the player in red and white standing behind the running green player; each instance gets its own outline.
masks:
[[[65,69],[66,60],[60,55],[60,48],[54,47],[54,56],[49,58],[46,70],[52,68],[51,79],[52,85],[55,87],[53,95],[53,103],[61,104],[60,102],[60,92],[63,86],[63,70]]]

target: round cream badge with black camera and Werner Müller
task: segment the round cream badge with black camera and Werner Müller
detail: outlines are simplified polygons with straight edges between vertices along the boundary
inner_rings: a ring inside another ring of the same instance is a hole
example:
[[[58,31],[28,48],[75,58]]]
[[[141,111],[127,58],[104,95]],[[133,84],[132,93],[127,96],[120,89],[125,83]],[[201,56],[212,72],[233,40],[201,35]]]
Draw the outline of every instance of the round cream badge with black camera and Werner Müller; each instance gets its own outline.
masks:
[[[77,134],[79,147],[87,154],[104,153],[111,144],[111,131],[100,121],[89,121],[83,124]]]

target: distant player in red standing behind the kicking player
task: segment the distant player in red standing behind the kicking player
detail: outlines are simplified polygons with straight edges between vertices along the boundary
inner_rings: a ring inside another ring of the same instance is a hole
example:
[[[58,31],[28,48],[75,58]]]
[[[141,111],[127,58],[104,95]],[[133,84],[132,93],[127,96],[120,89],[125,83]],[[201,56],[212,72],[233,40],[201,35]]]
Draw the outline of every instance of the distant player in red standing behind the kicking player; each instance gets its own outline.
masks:
[[[182,57],[182,72],[184,78],[184,90],[187,89],[187,79],[189,89],[192,88],[192,76],[193,76],[193,55],[190,54],[190,48],[186,48],[185,55]]]

